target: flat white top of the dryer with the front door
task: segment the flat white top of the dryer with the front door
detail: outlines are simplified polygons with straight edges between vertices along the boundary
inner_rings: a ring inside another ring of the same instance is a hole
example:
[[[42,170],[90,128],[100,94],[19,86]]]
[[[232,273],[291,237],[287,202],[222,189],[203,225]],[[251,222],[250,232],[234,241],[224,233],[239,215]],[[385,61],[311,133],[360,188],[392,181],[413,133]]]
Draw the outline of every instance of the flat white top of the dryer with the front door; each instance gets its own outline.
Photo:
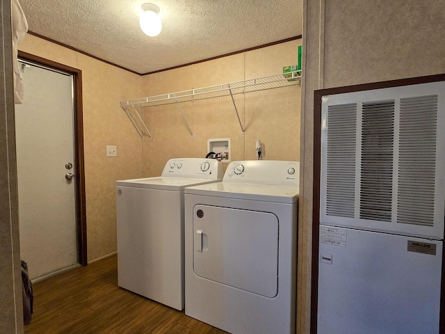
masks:
[[[216,182],[199,186],[190,186],[187,187],[184,192],[186,195],[191,194],[293,204],[298,200],[300,187],[277,186],[272,184]]]

